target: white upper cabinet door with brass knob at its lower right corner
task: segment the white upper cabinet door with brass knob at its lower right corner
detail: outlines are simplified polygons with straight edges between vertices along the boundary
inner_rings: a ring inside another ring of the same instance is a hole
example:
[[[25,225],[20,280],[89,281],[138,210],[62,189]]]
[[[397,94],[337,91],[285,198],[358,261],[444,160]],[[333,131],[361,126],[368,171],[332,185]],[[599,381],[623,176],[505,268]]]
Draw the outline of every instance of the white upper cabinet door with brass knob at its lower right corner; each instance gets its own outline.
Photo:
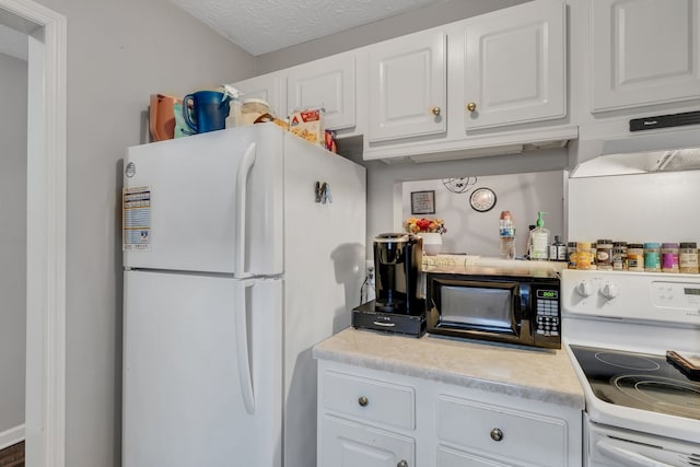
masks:
[[[443,31],[411,34],[369,48],[370,141],[445,131],[445,60]]]

